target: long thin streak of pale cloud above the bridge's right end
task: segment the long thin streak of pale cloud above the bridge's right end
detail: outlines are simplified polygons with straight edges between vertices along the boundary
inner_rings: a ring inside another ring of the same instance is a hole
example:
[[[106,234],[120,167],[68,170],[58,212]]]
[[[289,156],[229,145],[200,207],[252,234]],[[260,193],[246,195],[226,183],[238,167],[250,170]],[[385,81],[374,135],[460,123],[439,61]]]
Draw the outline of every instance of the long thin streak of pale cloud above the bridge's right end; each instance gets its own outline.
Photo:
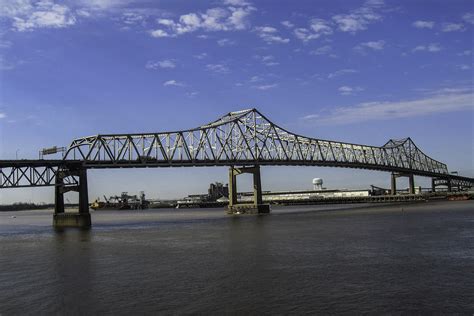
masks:
[[[474,94],[465,89],[442,90],[428,97],[409,101],[367,102],[355,106],[337,107],[328,113],[314,113],[304,119],[318,124],[351,124],[436,113],[474,110]]]

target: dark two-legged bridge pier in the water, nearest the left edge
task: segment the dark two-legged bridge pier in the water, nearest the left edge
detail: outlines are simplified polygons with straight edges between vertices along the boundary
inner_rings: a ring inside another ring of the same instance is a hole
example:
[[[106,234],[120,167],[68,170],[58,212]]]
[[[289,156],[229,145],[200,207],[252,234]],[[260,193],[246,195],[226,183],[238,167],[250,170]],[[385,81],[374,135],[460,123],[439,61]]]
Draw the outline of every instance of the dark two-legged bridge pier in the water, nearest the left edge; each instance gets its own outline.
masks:
[[[72,177],[73,184],[66,184],[64,179]],[[77,182],[79,180],[79,182]],[[75,191],[79,193],[79,210],[77,213],[66,213],[64,208],[64,193]],[[87,190],[87,169],[77,170],[61,169],[56,174],[55,205],[53,215],[53,226],[55,228],[79,227],[89,228],[91,226],[91,215],[89,213],[89,195]]]

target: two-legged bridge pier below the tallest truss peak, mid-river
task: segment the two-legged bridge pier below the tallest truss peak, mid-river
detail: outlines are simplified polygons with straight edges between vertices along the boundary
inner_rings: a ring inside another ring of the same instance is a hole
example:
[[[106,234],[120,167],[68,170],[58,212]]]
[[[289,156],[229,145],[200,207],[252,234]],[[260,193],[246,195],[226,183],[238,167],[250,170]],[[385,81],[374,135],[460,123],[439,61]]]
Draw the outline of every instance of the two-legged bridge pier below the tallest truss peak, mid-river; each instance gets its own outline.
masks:
[[[237,202],[237,176],[244,173],[253,175],[253,203]],[[266,214],[270,213],[270,205],[263,204],[260,166],[229,168],[229,206],[227,214]]]

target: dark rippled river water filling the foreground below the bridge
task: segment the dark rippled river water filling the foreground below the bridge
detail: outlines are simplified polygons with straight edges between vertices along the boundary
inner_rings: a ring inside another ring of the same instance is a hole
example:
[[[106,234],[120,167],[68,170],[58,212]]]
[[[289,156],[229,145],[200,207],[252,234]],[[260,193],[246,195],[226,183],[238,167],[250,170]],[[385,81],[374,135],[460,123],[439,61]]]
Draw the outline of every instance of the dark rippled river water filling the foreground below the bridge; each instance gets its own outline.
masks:
[[[474,313],[474,201],[341,208],[0,213],[0,315]]]

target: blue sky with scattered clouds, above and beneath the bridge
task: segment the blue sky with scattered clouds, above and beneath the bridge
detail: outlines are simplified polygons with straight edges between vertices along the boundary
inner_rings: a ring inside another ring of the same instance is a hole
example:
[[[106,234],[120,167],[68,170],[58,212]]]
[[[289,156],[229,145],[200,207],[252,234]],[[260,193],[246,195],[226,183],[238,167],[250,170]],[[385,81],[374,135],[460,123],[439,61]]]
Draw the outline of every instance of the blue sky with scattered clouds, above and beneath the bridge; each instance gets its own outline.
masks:
[[[472,1],[0,0],[0,23],[1,159],[256,107],[315,138],[383,145],[410,136],[474,176]],[[204,192],[227,173],[89,175],[92,199]],[[331,188],[389,184],[386,173],[335,168],[268,167],[262,176],[269,190],[309,189],[316,176]],[[52,190],[0,199],[52,201]]]

